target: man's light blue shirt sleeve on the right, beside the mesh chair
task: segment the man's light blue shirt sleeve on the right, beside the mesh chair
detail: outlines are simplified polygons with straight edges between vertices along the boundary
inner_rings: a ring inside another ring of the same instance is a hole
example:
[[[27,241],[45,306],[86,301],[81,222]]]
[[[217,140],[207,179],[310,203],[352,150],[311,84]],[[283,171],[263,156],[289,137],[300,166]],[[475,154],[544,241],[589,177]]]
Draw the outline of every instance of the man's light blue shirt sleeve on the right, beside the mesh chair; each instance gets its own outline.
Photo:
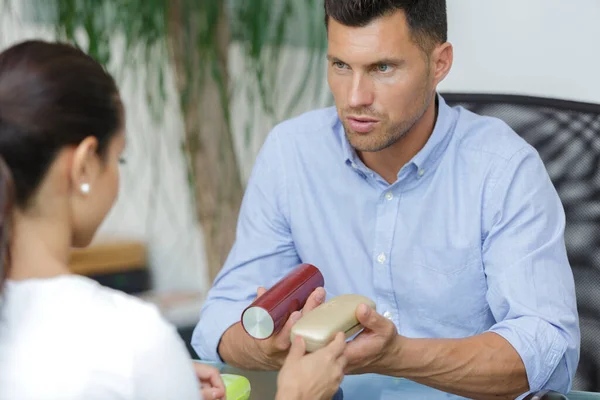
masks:
[[[580,331],[565,215],[531,146],[492,179],[483,210],[490,331],[519,353],[530,391],[567,393],[579,362]]]

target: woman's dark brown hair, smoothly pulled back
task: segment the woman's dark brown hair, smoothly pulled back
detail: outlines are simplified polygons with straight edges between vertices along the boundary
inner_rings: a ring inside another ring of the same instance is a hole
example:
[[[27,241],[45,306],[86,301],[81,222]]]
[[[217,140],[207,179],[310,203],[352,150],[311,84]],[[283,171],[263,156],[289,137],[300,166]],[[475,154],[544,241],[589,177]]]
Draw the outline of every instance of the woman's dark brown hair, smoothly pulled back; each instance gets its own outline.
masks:
[[[115,81],[74,46],[30,40],[0,53],[0,211],[10,203],[26,209],[66,146],[95,136],[104,156],[122,119]],[[2,218],[0,235],[8,241],[10,213]]]

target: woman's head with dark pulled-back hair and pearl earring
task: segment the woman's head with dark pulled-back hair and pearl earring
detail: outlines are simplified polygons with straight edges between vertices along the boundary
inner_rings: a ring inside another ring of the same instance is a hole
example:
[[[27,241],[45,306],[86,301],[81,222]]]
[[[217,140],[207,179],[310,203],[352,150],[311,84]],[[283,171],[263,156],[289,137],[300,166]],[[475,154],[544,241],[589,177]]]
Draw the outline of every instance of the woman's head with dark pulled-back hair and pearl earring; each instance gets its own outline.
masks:
[[[73,46],[27,41],[0,53],[0,157],[13,209],[61,215],[71,245],[89,244],[117,196],[123,112],[112,77]]]

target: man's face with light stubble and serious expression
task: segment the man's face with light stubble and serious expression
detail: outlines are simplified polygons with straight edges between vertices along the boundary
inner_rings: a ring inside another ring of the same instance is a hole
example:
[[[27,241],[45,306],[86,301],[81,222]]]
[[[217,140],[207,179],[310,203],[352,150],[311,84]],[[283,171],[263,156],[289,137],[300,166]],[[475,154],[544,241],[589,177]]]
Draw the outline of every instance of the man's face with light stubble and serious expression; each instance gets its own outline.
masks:
[[[433,97],[431,63],[411,39],[403,11],[364,27],[329,19],[327,79],[348,141],[383,150],[417,122]]]

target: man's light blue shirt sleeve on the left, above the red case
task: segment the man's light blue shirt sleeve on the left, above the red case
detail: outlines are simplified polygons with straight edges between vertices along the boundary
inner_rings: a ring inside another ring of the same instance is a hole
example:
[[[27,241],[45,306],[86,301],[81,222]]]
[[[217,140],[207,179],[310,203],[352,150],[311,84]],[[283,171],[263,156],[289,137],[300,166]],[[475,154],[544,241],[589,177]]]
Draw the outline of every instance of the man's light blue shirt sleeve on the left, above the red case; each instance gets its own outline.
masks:
[[[276,127],[259,152],[246,186],[236,240],[200,312],[192,347],[202,360],[222,361],[217,348],[240,321],[259,286],[269,288],[300,263],[288,219],[286,171]]]

